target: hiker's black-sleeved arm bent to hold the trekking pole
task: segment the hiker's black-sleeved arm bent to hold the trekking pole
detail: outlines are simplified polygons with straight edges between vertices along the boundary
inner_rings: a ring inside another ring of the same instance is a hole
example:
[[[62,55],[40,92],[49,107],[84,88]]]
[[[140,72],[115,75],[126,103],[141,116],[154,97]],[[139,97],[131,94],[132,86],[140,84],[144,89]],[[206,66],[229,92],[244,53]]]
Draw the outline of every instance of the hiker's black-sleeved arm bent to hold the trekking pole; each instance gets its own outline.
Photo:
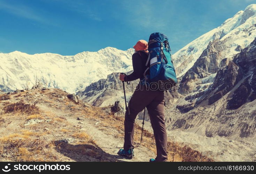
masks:
[[[133,54],[132,60],[133,60],[133,73],[125,76],[124,78],[125,82],[137,80],[143,74],[143,65],[142,65],[142,59],[140,54],[139,53]]]

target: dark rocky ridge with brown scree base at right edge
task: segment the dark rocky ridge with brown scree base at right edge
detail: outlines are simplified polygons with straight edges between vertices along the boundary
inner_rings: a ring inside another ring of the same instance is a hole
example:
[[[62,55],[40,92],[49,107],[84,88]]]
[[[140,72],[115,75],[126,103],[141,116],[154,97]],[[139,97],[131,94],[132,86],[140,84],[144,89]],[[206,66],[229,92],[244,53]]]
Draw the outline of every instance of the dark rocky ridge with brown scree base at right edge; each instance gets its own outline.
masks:
[[[255,48],[256,39],[218,70],[212,83],[201,84],[205,78],[195,81],[200,88],[167,109],[169,129],[255,142]]]

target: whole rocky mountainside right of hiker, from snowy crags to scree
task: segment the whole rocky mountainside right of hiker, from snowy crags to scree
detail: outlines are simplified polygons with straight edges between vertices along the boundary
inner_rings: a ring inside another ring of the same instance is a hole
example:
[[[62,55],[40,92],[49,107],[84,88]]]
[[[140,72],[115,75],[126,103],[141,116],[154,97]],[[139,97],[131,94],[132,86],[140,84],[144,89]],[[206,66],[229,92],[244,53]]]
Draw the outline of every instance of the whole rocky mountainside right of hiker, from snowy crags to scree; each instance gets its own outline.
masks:
[[[232,27],[235,33],[210,41],[180,78],[179,93],[182,95],[166,109],[172,120],[169,129],[255,142],[256,5],[248,6],[235,16],[238,14],[241,16]],[[246,44],[238,39],[241,33]],[[248,43],[250,39],[253,40]],[[237,53],[230,56],[235,53],[233,48]]]

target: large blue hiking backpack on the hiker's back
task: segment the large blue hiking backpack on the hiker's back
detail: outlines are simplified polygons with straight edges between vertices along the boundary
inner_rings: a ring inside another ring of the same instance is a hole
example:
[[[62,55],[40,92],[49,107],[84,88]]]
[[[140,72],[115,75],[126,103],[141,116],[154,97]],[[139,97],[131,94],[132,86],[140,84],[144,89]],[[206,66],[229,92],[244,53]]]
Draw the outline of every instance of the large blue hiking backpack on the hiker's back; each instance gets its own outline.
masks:
[[[157,82],[162,90],[170,90],[177,83],[168,38],[162,33],[152,33],[148,42],[144,83]],[[149,75],[146,75],[149,70]],[[160,82],[160,83],[159,83]]]

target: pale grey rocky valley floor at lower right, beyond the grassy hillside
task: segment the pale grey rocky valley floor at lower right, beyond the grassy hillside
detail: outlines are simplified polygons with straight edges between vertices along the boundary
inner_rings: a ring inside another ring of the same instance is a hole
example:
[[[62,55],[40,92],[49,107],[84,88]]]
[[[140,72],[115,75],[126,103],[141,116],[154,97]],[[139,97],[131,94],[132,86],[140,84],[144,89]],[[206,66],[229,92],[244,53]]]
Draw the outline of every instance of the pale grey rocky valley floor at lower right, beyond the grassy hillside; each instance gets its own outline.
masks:
[[[142,120],[136,120],[142,125]],[[145,129],[152,132],[150,122],[145,122]],[[214,161],[256,161],[256,144],[246,139],[235,141],[225,137],[206,137],[179,129],[167,131],[172,141],[187,144],[193,149],[211,157]]]

